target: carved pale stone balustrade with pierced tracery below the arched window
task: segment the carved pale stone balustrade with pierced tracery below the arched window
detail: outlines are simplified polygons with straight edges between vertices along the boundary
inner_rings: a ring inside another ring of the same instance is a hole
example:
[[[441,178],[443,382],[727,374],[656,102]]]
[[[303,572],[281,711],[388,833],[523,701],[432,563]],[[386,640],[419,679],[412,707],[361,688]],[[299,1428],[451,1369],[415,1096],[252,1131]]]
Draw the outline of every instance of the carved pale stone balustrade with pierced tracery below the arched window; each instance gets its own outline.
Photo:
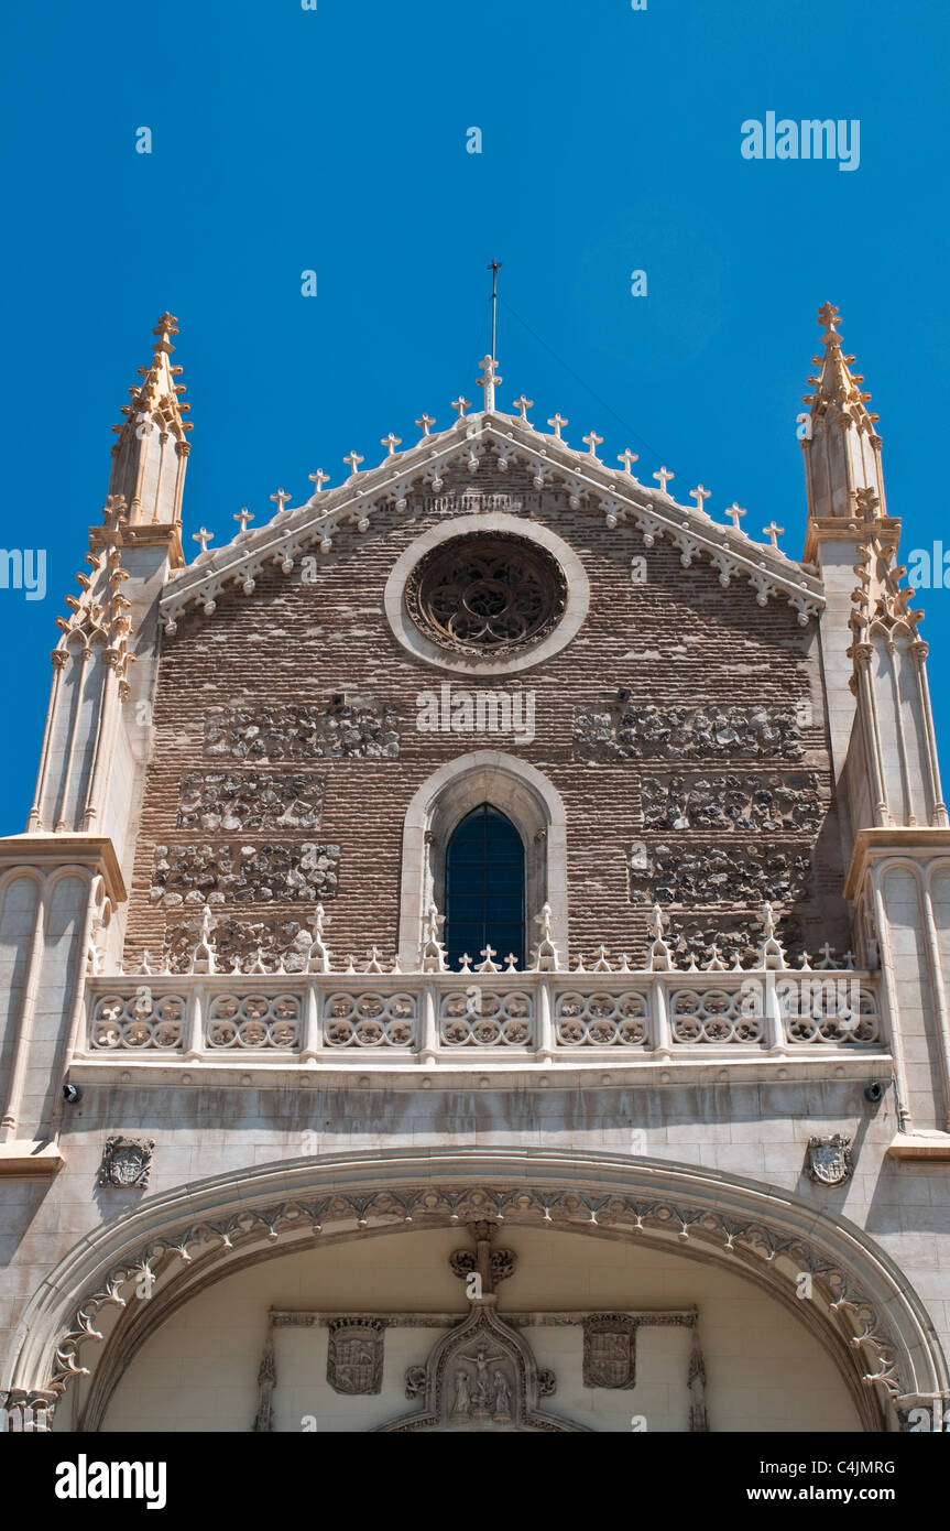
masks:
[[[76,1055],[349,1066],[886,1053],[867,972],[148,974],[90,977]]]

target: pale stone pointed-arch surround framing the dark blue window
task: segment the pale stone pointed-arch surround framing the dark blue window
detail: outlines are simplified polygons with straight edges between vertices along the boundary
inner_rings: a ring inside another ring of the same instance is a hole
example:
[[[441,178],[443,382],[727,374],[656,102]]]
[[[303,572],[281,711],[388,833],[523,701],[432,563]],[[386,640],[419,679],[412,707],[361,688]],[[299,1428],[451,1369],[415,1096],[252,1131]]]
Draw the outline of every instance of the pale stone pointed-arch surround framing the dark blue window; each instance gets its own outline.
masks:
[[[525,845],[525,949],[534,916],[548,903],[552,939],[566,960],[568,813],[561,795],[526,761],[500,750],[476,750],[433,772],[405,811],[399,893],[399,961],[405,971],[419,963],[428,908],[445,908],[445,847],[451,831],[483,802],[511,819]]]

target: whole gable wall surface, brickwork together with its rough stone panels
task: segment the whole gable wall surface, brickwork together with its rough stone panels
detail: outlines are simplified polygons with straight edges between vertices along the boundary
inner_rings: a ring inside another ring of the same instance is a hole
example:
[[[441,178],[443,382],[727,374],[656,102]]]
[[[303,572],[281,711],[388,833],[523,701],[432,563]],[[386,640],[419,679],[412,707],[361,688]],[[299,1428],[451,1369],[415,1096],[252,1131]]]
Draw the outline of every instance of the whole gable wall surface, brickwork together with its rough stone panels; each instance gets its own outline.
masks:
[[[526,479],[485,468],[448,481],[447,493],[473,485],[531,496]],[[647,867],[665,854],[707,868],[722,848],[734,860],[739,836],[747,856],[795,870],[769,885],[786,899],[780,929],[792,945],[849,945],[814,623],[802,629],[780,600],[759,606],[743,582],[724,591],[708,563],[685,570],[670,545],[646,548],[639,531],[609,530],[592,508],[571,511],[561,493],[546,499],[543,522],[584,563],[592,597],[578,635],[537,669],[467,680],[396,641],[382,609],[387,576],[422,531],[447,519],[412,498],[404,513],[376,511],[366,533],[341,528],[312,583],[300,562],[289,576],[274,568],[252,596],[228,591],[213,617],[179,623],[161,661],[127,961],[142,946],[153,955],[181,946],[182,911],[167,908],[167,882],[159,897],[151,888],[159,862],[181,868],[196,848],[205,871],[173,891],[223,891],[219,916],[257,925],[265,945],[298,949],[300,925],[327,890],[306,876],[292,888],[280,877],[222,888],[220,868],[228,879],[262,857],[285,865],[304,845],[329,859],[338,848],[330,949],[361,958],[376,945],[392,957],[405,808],[436,769],[486,747],[529,761],[564,801],[572,952],[603,942],[643,958],[649,905],[635,903],[630,888],[638,842]],[[632,579],[633,557],[646,560],[646,583]],[[453,692],[534,692],[532,743],[419,732],[418,698],[444,683]],[[685,798],[673,778],[688,778]],[[701,905],[707,934],[722,926],[742,939],[768,888],[743,876],[730,879],[724,899],[714,890],[708,883],[699,897],[690,883],[682,908],[670,900],[679,928]],[[243,939],[245,949],[254,945]]]

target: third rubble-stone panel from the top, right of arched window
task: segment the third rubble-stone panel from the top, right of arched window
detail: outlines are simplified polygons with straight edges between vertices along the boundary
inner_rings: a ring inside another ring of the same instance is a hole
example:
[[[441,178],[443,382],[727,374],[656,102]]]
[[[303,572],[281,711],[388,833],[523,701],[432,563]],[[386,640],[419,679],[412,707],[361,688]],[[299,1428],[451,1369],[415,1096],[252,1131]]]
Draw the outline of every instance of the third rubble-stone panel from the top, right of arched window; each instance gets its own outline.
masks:
[[[646,860],[646,867],[643,862]],[[633,903],[794,903],[808,893],[811,857],[800,850],[643,844],[629,856]]]

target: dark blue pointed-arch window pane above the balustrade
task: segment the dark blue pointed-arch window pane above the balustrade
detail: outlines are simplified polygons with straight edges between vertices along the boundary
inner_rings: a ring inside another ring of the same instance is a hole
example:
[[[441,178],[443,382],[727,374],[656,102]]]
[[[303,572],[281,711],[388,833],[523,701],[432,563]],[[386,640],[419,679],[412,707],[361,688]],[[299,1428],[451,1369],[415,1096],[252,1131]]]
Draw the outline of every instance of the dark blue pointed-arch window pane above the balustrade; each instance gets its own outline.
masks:
[[[483,802],[456,827],[445,850],[445,949],[457,972],[491,946],[525,966],[525,847],[511,819]]]

